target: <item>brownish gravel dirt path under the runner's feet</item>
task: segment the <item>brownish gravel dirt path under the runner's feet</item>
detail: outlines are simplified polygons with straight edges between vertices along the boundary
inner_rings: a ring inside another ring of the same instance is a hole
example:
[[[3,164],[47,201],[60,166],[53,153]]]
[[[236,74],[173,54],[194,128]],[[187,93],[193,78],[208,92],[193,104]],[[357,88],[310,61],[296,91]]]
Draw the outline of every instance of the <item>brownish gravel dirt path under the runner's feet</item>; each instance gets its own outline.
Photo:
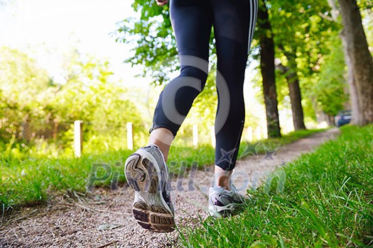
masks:
[[[234,171],[235,185],[244,190],[256,186],[266,174],[335,137],[335,129],[316,133],[278,150],[242,159]],[[198,215],[207,217],[206,193],[212,167],[191,172],[171,183],[177,225],[193,225]],[[126,186],[116,191],[96,189],[92,197],[77,193],[53,198],[46,206],[24,209],[0,226],[0,247],[171,247],[178,232],[148,232],[131,214],[133,192]]]

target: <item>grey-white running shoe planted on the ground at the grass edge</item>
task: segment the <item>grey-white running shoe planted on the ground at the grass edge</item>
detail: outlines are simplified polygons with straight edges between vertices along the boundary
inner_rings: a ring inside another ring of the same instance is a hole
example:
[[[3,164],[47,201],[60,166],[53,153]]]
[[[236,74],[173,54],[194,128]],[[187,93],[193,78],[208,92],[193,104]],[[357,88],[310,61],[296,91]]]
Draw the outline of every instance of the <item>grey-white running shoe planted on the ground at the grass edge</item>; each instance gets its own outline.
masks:
[[[209,213],[218,218],[236,214],[245,202],[244,196],[233,185],[230,191],[221,186],[210,187],[209,196]]]

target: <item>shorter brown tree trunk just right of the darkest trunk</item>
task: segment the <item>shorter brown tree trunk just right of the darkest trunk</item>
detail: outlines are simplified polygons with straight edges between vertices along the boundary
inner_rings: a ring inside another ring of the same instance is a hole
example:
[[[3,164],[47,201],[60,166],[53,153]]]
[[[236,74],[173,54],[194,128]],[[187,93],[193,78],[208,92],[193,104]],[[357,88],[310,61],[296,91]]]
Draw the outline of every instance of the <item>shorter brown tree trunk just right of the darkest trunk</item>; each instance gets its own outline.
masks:
[[[294,129],[305,130],[306,125],[304,125],[301,88],[299,87],[299,79],[296,74],[296,61],[293,55],[286,54],[286,57],[288,58],[288,65],[290,68],[284,67],[283,64],[279,64],[278,67],[281,72],[286,74],[286,80],[288,81]]]

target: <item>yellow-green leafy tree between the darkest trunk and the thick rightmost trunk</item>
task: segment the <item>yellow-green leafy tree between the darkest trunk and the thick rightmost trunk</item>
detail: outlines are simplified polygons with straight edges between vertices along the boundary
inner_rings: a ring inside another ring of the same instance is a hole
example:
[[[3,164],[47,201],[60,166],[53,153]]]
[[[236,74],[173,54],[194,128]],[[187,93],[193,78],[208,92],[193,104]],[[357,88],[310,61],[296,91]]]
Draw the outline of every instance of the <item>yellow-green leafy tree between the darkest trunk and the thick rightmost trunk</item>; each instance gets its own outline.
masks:
[[[321,18],[328,14],[327,1],[268,1],[269,16],[274,30],[276,64],[279,64],[277,82],[285,78],[287,84],[278,84],[279,101],[283,92],[288,92],[293,113],[294,128],[304,128],[303,108],[308,118],[315,111],[324,111],[317,104],[313,91],[319,84],[318,74],[323,68],[323,58],[330,53],[329,39],[337,33],[337,25]],[[341,82],[342,84],[342,82]],[[287,86],[288,91],[281,87]],[[302,96],[304,99],[302,99]],[[312,97],[310,97],[312,96]],[[340,101],[340,99],[338,99]]]

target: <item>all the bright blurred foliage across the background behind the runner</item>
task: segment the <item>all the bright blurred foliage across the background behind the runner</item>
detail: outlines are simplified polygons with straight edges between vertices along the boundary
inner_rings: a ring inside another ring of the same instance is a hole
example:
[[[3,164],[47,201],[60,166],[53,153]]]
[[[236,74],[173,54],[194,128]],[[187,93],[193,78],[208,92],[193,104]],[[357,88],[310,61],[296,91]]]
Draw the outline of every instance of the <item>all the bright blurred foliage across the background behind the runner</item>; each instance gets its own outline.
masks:
[[[265,1],[274,33],[276,61],[298,77],[306,125],[314,128],[326,115],[349,108],[345,80],[346,67],[339,32],[341,26],[330,20],[328,1]],[[360,0],[367,40],[373,45],[372,1]],[[126,149],[126,123],[133,123],[134,147],[144,145],[158,93],[178,69],[175,39],[168,17],[168,6],[135,0],[140,18],[125,18],[112,35],[117,42],[134,49],[127,63],[141,67],[141,77],[153,82],[151,91],[134,94],[113,75],[110,64],[101,58],[72,48],[65,57],[55,81],[27,52],[0,47],[0,149],[12,156],[60,154],[71,156],[72,123],[84,121],[85,152]],[[259,33],[260,30],[256,30]],[[213,35],[212,35],[213,36]],[[215,41],[212,38],[211,51]],[[251,91],[263,105],[258,56],[258,38],[249,55]],[[190,145],[192,125],[198,124],[200,140],[210,142],[217,108],[215,90],[216,57],[210,57],[210,75],[205,90],[196,99],[175,142]],[[290,110],[287,73],[276,69],[280,115]],[[148,94],[148,96],[146,96]],[[141,99],[139,98],[141,95]],[[147,106],[140,101],[147,99]],[[261,109],[247,106],[246,127],[262,125]],[[144,114],[146,113],[146,115]],[[291,114],[288,116],[291,118]],[[185,144],[186,144],[185,143]],[[185,145],[184,144],[184,145]]]

